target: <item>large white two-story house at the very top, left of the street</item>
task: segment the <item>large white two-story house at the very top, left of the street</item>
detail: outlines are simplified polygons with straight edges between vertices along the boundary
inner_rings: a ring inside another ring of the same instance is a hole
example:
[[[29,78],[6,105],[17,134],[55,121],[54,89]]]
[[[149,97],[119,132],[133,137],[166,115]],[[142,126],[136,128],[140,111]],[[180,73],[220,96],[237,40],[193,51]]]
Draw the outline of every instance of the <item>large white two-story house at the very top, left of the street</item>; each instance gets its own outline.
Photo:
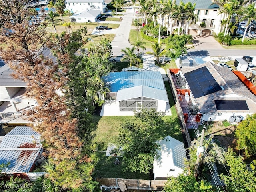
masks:
[[[80,13],[85,10],[100,10],[102,13],[108,10],[104,0],[66,0],[66,8],[71,13]]]

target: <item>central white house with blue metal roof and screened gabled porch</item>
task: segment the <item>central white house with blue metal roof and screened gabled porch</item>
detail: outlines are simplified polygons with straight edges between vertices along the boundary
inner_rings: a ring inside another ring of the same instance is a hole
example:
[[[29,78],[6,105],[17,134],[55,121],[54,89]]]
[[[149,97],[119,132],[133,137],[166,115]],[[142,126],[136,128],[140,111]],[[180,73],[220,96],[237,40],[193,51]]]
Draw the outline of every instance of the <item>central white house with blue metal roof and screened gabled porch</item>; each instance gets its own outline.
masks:
[[[101,116],[134,115],[142,106],[167,110],[169,100],[159,71],[110,72],[103,79],[111,92],[106,95]]]

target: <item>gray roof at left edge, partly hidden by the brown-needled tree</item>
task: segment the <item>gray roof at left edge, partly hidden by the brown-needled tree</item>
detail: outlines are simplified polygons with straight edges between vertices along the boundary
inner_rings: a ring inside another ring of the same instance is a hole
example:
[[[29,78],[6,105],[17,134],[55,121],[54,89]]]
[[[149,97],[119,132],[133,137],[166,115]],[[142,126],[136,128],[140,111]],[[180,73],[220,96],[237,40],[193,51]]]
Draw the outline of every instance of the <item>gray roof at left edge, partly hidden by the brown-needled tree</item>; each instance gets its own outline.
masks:
[[[10,69],[8,64],[0,68],[0,86],[1,87],[27,87],[26,82],[14,79],[11,74],[14,70]]]

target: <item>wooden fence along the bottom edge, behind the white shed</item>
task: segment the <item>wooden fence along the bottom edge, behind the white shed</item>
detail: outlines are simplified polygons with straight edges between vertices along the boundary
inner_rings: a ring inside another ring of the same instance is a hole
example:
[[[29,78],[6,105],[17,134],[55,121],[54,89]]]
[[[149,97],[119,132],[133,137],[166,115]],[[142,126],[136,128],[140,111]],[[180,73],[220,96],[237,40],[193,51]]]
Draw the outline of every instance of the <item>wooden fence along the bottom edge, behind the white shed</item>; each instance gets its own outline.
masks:
[[[119,188],[118,182],[125,183],[127,189],[136,190],[162,190],[167,180],[143,180],[121,178],[95,178],[101,186],[113,186]]]

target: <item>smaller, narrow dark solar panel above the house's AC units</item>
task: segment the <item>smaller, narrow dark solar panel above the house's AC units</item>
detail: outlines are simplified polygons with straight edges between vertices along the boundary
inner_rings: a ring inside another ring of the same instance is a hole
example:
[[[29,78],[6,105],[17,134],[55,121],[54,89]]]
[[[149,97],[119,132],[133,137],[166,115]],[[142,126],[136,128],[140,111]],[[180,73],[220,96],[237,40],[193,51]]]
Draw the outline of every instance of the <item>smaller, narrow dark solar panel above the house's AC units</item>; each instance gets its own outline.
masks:
[[[215,100],[217,110],[249,110],[245,100],[223,101]]]

